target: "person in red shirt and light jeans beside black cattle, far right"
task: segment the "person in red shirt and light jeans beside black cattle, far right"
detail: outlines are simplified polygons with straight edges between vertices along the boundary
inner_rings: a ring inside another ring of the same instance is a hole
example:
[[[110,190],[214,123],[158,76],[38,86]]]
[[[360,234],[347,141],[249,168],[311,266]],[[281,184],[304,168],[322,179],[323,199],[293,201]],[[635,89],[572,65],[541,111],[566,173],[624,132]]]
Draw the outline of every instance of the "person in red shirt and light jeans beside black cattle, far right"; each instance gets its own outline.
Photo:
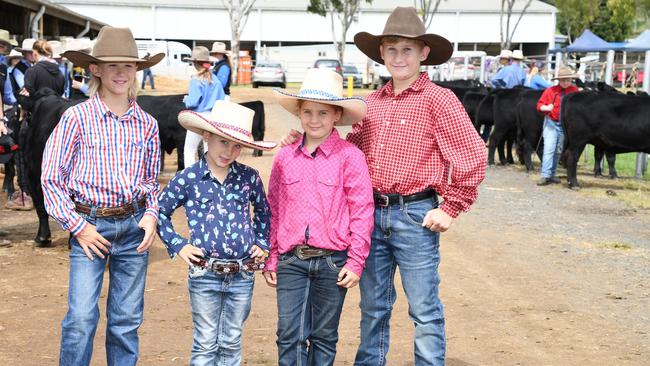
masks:
[[[564,129],[560,120],[560,108],[562,99],[567,94],[578,91],[578,87],[573,85],[573,80],[576,78],[578,75],[570,67],[560,67],[557,77],[553,78],[553,80],[558,80],[558,84],[544,90],[537,101],[537,111],[544,113],[542,130],[544,153],[542,155],[542,176],[537,182],[538,186],[560,183],[560,179],[555,176],[557,163],[564,149]]]

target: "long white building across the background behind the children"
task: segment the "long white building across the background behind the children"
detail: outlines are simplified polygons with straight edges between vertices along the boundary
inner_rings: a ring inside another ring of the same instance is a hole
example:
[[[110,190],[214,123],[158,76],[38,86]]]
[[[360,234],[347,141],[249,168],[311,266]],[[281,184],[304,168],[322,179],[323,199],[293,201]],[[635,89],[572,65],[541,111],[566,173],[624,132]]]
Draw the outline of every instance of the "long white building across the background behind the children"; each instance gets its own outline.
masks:
[[[129,27],[136,38],[175,40],[193,45],[231,39],[228,13],[219,0],[51,0],[75,12],[113,26]],[[304,45],[332,42],[329,17],[307,13],[307,0],[257,0],[241,36],[242,49],[261,46]],[[515,12],[523,8],[518,1]],[[362,2],[347,42],[364,30],[381,33],[396,6],[413,6],[412,0]],[[443,0],[428,31],[454,43],[457,50],[484,50],[496,54],[500,44],[500,0]],[[525,54],[543,54],[554,47],[556,8],[533,1],[513,37]],[[518,13],[513,15],[512,24]]]

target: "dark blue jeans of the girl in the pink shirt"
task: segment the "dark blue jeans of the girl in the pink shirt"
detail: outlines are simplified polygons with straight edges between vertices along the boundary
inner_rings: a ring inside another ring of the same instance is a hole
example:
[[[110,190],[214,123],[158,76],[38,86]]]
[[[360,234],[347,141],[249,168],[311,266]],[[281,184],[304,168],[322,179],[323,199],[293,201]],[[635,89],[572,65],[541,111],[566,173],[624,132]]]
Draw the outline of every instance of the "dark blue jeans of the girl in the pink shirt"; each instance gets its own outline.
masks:
[[[347,252],[301,260],[280,255],[277,269],[281,366],[333,365],[347,289],[336,284]],[[308,343],[309,342],[309,343]]]

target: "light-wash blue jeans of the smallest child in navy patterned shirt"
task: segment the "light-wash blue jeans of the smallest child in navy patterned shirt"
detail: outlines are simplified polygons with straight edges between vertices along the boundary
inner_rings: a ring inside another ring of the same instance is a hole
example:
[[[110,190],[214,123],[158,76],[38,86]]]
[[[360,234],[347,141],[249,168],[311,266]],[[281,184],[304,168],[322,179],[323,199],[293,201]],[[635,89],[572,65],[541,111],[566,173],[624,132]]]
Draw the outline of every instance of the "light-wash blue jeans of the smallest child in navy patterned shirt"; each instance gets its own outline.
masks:
[[[253,298],[253,272],[190,278],[194,322],[190,365],[241,364],[241,335]]]

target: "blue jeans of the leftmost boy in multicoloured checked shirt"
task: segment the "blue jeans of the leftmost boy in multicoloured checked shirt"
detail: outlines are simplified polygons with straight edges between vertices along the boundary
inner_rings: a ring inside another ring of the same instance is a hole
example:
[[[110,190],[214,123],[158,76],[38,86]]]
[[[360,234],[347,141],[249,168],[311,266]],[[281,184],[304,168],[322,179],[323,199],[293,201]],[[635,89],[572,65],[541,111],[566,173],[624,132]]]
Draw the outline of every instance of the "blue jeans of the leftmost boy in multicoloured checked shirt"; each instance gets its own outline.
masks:
[[[144,286],[149,253],[138,253],[144,231],[138,222],[144,209],[126,218],[82,217],[96,226],[110,243],[105,259],[91,261],[75,237],[71,237],[68,312],[61,329],[60,365],[88,365],[99,321],[99,295],[108,263],[106,300],[106,363],[135,365],[138,360],[138,328],[144,312]]]

